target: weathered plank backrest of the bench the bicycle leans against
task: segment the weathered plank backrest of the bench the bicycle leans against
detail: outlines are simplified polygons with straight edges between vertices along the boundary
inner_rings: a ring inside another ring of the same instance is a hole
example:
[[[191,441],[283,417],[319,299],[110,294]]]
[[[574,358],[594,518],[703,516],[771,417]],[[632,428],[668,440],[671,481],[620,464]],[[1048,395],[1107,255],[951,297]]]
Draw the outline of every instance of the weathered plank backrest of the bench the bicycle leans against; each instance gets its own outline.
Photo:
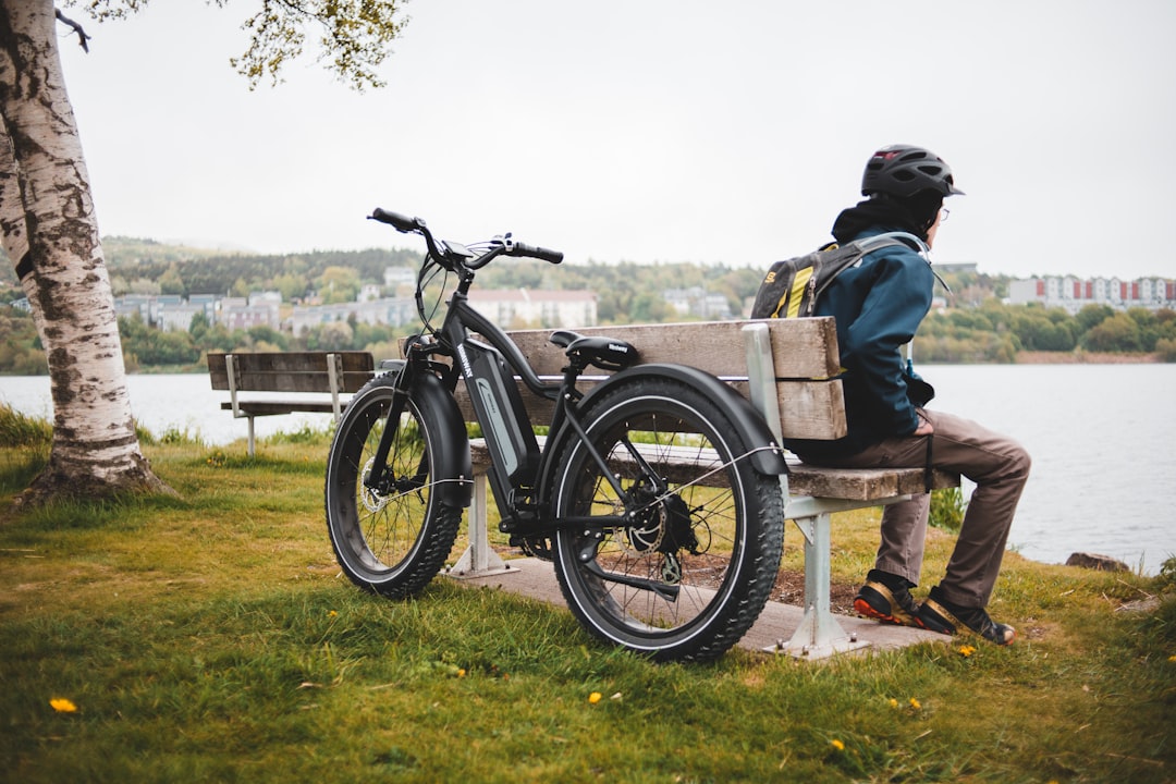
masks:
[[[748,396],[747,353],[743,327],[764,323],[771,336],[776,398],[781,431],[789,438],[831,440],[846,435],[846,407],[841,381],[835,378],[841,362],[833,319],[767,319],[750,321],[630,324],[576,329],[582,335],[608,335],[636,347],[641,362],[689,364],[730,383]],[[557,376],[566,364],[563,350],[549,342],[550,329],[509,333],[541,376]],[[589,368],[589,373],[601,373]],[[586,380],[583,386],[590,384]],[[463,389],[459,388],[460,393]],[[549,401],[523,389],[523,401],[535,423],[550,417]],[[474,413],[465,394],[459,402],[467,421]]]

